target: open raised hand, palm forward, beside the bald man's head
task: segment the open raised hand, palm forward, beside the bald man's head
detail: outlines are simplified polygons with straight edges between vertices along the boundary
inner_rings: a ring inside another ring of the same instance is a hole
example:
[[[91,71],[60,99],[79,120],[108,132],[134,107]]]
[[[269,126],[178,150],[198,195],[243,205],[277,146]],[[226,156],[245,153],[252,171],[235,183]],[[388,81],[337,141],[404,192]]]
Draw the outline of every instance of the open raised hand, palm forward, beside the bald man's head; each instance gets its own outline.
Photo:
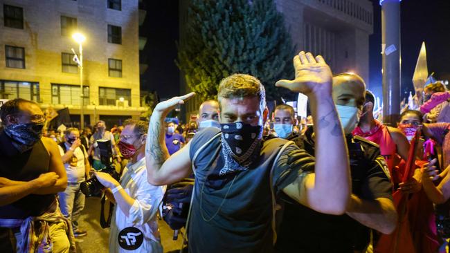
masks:
[[[321,55],[314,58],[312,53],[301,51],[294,57],[296,77],[294,80],[282,79],[276,86],[289,88],[305,95],[331,95],[332,72]]]

